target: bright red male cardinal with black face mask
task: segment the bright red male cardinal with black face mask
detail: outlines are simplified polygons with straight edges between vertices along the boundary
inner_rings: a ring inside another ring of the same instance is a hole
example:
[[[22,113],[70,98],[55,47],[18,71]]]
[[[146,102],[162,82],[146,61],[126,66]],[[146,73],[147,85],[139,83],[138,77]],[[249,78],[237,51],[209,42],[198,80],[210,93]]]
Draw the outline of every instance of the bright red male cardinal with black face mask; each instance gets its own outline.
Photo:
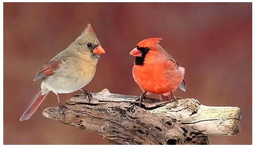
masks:
[[[130,52],[130,55],[135,56],[133,78],[144,92],[140,95],[139,104],[147,93],[160,94],[160,100],[167,97],[173,101],[176,98],[173,91],[178,87],[186,91],[185,69],[158,44],[160,40],[142,40]]]

